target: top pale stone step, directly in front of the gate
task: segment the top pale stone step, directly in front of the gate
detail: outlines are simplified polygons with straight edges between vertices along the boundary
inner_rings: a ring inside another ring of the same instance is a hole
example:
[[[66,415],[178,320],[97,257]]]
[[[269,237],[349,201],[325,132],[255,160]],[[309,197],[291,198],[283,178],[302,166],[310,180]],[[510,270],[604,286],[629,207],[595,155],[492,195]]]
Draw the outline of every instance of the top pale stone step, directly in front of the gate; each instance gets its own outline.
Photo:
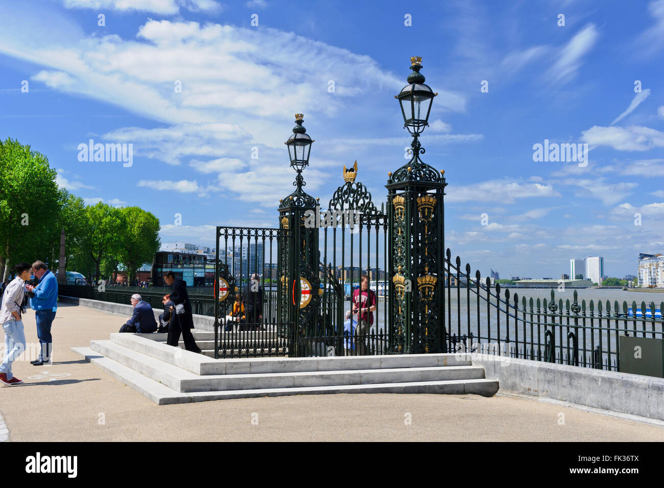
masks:
[[[359,370],[402,367],[470,366],[455,354],[411,354],[346,357],[258,357],[214,359],[137,334],[111,334],[111,341],[139,353],[171,363],[195,374],[248,374],[266,372]],[[464,356],[465,357],[465,356]]]

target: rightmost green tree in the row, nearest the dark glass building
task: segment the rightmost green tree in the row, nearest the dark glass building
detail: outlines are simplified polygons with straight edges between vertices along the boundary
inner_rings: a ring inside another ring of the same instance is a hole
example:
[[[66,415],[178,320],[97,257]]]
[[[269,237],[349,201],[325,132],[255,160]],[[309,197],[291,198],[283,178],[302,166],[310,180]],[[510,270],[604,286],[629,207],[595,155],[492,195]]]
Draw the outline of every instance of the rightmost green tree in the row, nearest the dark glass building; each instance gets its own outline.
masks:
[[[133,283],[138,268],[152,263],[159,250],[159,219],[137,206],[127,206],[120,211],[126,222],[118,258],[127,268],[129,283]]]

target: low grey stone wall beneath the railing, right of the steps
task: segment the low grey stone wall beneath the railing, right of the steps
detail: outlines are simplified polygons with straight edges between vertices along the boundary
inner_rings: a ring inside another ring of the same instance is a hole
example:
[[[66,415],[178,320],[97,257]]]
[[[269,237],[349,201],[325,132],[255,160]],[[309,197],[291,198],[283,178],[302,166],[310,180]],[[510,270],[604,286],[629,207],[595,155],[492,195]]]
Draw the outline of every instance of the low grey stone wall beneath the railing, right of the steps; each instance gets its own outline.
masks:
[[[460,355],[465,356],[465,355]],[[500,390],[664,420],[664,378],[497,355],[470,355]]]

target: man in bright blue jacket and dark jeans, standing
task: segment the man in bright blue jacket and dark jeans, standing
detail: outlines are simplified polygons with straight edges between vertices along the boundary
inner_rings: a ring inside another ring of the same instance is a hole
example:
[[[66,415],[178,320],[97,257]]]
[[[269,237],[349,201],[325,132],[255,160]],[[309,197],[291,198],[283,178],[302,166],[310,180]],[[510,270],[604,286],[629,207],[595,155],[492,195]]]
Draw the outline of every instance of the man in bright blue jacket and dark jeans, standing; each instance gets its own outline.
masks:
[[[41,345],[41,353],[36,361],[31,361],[35,366],[50,363],[53,351],[53,339],[50,335],[50,326],[58,309],[58,280],[52,274],[46,264],[41,261],[33,263],[33,273],[39,279],[37,286],[25,285],[25,289],[33,293],[30,299],[30,307],[35,310],[37,320],[37,337]]]

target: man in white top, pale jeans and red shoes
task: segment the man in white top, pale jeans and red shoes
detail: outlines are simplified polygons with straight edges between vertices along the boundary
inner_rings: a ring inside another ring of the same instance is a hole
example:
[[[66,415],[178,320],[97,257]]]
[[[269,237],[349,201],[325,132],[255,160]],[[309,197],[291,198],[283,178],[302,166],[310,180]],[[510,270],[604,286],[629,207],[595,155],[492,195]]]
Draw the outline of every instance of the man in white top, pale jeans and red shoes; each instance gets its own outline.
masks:
[[[11,363],[25,351],[25,333],[23,333],[23,321],[21,321],[21,305],[25,295],[25,282],[30,279],[32,265],[19,263],[15,266],[16,278],[14,278],[2,297],[0,308],[0,324],[5,331],[5,357],[0,365],[0,383],[5,386],[13,386],[23,383],[23,380],[15,378],[11,373]]]

